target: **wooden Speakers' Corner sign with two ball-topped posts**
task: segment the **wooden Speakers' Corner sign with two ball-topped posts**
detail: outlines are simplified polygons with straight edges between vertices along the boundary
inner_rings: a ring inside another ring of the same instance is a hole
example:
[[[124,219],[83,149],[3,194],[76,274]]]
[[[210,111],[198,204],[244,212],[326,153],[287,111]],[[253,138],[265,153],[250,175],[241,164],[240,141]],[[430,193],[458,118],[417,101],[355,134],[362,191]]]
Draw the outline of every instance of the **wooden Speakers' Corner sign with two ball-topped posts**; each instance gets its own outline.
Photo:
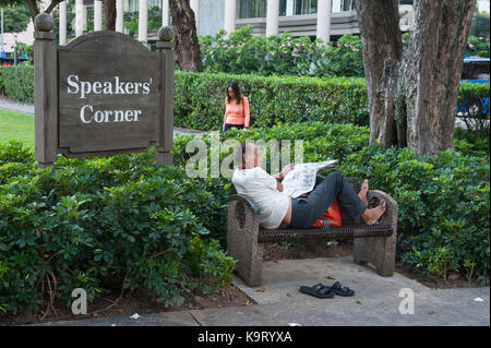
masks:
[[[158,164],[171,164],[170,28],[159,31],[158,52],[116,32],[91,33],[56,47],[46,31],[49,19],[40,15],[34,44],[38,167],[52,165],[59,153],[93,157],[151,146],[156,146]]]

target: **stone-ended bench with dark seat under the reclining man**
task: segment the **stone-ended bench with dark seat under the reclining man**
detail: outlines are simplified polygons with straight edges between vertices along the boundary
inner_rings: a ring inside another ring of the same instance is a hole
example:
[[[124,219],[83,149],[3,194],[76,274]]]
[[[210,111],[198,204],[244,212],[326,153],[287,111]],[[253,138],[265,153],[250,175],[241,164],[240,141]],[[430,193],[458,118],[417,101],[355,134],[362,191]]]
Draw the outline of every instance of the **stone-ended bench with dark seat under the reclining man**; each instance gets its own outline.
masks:
[[[356,192],[360,183],[347,178]],[[394,273],[398,205],[382,191],[368,192],[369,207],[386,202],[386,212],[378,224],[368,226],[363,220],[352,220],[342,211],[342,226],[307,229],[262,229],[260,211],[250,197],[233,194],[228,199],[227,251],[236,263],[236,272],[249,287],[261,285],[263,243],[280,241],[354,239],[354,262],[372,264],[376,273],[390,277]]]

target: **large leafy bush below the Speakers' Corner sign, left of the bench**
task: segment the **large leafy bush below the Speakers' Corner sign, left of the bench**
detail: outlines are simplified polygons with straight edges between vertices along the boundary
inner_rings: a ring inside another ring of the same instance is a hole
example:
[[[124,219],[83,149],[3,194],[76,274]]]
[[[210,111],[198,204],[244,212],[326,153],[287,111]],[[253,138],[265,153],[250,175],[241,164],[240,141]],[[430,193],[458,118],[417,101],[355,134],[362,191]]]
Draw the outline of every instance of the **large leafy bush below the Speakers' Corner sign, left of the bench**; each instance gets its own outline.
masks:
[[[211,232],[226,215],[223,185],[155,167],[153,155],[35,169],[20,144],[0,145],[0,312],[38,310],[55,284],[67,301],[74,288],[92,300],[116,283],[166,305],[230,284],[233,260],[209,239],[224,233]]]

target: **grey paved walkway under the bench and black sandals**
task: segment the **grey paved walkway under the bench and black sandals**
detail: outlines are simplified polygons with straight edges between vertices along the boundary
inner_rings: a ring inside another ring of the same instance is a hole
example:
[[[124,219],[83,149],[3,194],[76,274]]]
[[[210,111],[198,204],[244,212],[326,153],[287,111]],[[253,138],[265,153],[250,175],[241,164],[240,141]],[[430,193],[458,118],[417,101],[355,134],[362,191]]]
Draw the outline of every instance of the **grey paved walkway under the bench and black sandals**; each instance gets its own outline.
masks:
[[[335,279],[328,279],[332,277]],[[316,299],[298,291],[301,285],[340,281],[354,297]],[[263,263],[261,287],[233,284],[258,304],[142,315],[55,322],[49,326],[489,326],[490,288],[430,289],[400,274],[380,277],[351,257],[286,260]],[[414,314],[400,314],[405,297],[414,293]],[[481,301],[480,301],[481,300]]]

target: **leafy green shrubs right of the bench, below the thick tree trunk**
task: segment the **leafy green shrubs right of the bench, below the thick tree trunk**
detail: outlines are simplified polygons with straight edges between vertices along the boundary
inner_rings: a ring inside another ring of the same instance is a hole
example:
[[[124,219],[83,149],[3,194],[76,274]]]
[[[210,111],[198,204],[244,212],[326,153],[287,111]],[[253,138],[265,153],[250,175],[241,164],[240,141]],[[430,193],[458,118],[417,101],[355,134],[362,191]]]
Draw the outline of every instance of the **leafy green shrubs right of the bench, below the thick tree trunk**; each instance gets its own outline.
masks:
[[[342,171],[370,178],[397,201],[404,263],[427,275],[445,278],[454,269],[489,283],[489,156],[420,157],[375,144],[350,155]]]

